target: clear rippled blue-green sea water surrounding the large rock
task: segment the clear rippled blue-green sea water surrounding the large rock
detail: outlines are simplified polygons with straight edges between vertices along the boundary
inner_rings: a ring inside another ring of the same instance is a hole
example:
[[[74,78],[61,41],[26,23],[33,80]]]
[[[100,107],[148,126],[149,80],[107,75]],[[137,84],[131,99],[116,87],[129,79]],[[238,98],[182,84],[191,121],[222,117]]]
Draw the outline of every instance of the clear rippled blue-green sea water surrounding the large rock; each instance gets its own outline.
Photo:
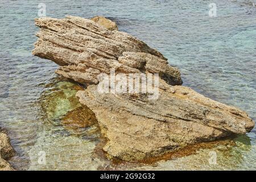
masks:
[[[15,169],[256,169],[256,129],[205,143],[155,163],[113,163],[101,155],[96,125],[69,126],[82,115],[75,83],[57,76],[55,63],[32,56],[38,4],[63,18],[103,15],[146,42],[182,73],[185,86],[245,110],[256,120],[256,1],[0,1],[0,126],[9,131]],[[209,3],[217,16],[210,17]],[[209,164],[209,152],[217,164]],[[40,157],[46,154],[46,163]],[[39,160],[39,163],[38,163]]]

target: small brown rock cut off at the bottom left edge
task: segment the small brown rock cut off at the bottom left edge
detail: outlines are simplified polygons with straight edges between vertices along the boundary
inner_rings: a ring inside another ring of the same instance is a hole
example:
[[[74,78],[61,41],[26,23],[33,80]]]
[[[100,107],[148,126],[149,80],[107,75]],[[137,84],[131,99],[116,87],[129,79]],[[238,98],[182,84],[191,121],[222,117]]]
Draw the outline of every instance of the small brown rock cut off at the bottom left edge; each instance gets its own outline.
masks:
[[[14,156],[15,152],[10,144],[6,131],[0,127],[0,171],[13,171],[14,169],[6,161]]]

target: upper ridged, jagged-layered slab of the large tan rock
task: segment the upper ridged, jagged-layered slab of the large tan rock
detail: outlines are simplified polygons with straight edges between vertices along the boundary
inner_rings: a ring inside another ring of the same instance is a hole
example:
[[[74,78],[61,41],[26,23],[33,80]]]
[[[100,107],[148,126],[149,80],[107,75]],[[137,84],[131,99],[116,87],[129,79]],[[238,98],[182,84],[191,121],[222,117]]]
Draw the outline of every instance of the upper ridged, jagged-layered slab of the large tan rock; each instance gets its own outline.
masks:
[[[61,65],[56,73],[81,84],[97,84],[100,73],[159,72],[168,82],[182,84],[180,72],[147,44],[126,34],[109,31],[92,20],[37,18],[41,30],[33,54]],[[144,59],[142,61],[142,59]],[[128,64],[127,62],[133,62]],[[162,69],[161,69],[162,68]]]

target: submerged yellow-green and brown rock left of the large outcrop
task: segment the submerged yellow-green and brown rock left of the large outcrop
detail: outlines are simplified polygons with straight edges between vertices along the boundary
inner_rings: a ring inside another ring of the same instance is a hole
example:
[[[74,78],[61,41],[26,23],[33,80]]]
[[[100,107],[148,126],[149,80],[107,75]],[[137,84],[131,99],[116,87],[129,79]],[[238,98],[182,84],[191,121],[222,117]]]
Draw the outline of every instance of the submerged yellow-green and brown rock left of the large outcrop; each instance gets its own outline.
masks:
[[[97,119],[92,110],[77,100],[76,92],[79,90],[84,89],[73,82],[57,82],[51,94],[42,95],[40,107],[46,113],[43,117],[71,135],[97,138],[100,135]]]

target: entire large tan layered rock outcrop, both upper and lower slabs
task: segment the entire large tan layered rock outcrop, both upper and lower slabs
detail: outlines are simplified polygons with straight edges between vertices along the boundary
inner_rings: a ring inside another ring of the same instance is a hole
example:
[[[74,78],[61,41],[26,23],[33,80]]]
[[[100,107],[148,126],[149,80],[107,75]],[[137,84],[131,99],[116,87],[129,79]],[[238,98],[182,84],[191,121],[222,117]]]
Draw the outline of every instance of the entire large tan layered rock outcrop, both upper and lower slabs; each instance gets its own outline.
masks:
[[[34,55],[54,61],[60,65],[57,74],[87,86],[77,97],[96,114],[110,158],[142,160],[254,127],[244,111],[179,86],[179,70],[125,32],[76,16],[39,18],[35,24],[41,29]],[[126,75],[159,73],[159,98],[99,93],[98,75],[109,75],[111,69]]]

